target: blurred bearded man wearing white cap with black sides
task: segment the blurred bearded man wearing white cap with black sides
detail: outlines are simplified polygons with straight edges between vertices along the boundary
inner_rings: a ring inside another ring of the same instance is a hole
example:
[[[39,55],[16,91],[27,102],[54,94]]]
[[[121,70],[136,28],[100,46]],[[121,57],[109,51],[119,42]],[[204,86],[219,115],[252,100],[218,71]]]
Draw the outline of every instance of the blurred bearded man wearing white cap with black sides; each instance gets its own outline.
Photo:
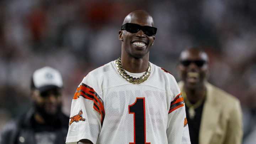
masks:
[[[0,144],[64,144],[69,118],[62,111],[63,82],[59,71],[43,67],[31,81],[33,107],[2,130]]]

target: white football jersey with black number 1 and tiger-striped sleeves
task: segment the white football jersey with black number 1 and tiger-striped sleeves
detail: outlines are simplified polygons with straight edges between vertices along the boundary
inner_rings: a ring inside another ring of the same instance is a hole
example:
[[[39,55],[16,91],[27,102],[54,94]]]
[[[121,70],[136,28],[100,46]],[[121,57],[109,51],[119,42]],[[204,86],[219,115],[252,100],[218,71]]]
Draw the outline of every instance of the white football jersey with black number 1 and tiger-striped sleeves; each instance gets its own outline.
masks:
[[[190,144],[176,80],[150,64],[150,76],[140,84],[122,78],[115,61],[87,74],[72,100],[66,144]]]

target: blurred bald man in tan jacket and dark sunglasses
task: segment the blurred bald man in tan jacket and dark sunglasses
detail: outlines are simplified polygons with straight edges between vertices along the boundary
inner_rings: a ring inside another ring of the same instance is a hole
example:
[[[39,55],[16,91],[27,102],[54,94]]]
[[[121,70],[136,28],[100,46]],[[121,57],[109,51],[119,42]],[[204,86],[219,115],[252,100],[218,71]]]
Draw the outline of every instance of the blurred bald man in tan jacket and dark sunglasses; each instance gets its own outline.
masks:
[[[191,144],[241,144],[240,102],[207,82],[208,63],[203,50],[188,48],[182,51],[177,66]]]

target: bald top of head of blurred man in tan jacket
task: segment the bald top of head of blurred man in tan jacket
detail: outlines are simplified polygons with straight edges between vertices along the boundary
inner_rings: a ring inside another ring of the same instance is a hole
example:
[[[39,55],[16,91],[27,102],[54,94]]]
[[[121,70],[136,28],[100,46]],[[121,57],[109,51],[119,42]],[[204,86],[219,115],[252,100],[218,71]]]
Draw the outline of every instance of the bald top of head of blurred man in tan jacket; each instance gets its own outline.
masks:
[[[181,52],[180,60],[185,60],[188,57],[190,57],[191,59],[194,59],[194,58],[196,59],[196,57],[197,58],[199,57],[202,60],[209,62],[209,58],[206,52],[204,52],[203,49],[197,48],[197,47],[187,48]]]

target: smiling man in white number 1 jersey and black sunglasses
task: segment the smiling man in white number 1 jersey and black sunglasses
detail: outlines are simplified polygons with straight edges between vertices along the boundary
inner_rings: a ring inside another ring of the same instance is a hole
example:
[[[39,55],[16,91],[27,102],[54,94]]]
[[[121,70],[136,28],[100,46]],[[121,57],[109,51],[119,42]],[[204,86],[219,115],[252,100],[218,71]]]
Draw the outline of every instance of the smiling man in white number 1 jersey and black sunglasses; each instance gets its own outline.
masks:
[[[143,10],[126,16],[121,58],[91,71],[75,92],[67,144],[190,144],[176,80],[149,62],[156,30]]]

